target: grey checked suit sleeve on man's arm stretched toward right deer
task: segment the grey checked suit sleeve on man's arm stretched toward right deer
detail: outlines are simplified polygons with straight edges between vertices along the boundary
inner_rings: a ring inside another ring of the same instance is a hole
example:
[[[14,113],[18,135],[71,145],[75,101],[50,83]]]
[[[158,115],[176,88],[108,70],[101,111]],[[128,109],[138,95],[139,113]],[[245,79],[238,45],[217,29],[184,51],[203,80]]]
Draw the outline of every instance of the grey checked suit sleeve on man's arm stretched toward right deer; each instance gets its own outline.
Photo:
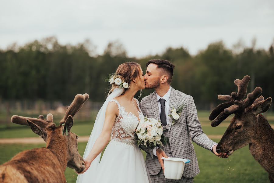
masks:
[[[201,123],[198,120],[197,109],[192,96],[189,97],[186,105],[186,119],[188,132],[193,142],[208,150],[210,150],[212,145],[217,144],[210,140],[203,132]]]

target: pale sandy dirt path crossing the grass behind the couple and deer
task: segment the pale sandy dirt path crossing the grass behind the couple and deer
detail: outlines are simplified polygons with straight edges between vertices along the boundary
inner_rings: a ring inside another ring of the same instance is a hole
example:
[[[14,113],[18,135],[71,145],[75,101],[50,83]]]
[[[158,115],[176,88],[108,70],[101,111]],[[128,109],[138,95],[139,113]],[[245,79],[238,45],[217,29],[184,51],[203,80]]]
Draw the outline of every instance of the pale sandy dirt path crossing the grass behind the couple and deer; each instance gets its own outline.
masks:
[[[229,123],[220,124],[220,126],[228,126]],[[207,124],[202,124],[207,126]],[[210,124],[208,124],[210,126]],[[274,124],[271,124],[274,129]],[[221,139],[223,135],[207,135],[210,139]],[[90,136],[81,136],[78,142],[87,142]],[[0,138],[0,144],[43,144],[44,140],[40,137],[26,137],[26,138]]]

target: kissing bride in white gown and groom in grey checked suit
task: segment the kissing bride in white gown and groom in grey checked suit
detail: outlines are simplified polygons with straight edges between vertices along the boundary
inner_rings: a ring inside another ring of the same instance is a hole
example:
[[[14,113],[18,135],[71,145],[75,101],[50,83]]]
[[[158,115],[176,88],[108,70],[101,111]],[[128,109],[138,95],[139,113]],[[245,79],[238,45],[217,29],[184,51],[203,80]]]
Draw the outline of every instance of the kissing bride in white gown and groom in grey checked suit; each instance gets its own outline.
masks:
[[[170,86],[175,65],[159,59],[148,61],[146,67],[144,75],[139,63],[123,63],[110,76],[112,87],[96,117],[83,156],[86,168],[79,173],[77,183],[193,182],[200,170],[191,141],[216,156],[228,157],[226,153],[217,153],[217,143],[202,131],[193,97]],[[134,95],[143,89],[155,91],[139,104]],[[172,109],[182,105],[180,116],[170,115]],[[141,147],[147,153],[146,162],[135,136],[135,129],[145,116],[160,120],[163,135],[169,139],[162,148]],[[162,157],[191,162],[185,164],[180,180],[171,180],[164,177]]]

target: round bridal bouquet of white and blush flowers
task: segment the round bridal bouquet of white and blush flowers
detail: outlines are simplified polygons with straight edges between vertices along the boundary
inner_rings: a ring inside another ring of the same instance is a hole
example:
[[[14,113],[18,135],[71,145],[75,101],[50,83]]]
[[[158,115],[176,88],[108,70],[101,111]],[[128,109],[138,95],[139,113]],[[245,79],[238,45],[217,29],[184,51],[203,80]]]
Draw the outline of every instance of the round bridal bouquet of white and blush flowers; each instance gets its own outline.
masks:
[[[157,145],[163,146],[166,144],[167,138],[163,135],[163,126],[160,120],[156,120],[153,118],[145,117],[144,120],[140,121],[135,130],[135,134],[137,135],[137,145],[142,145],[147,147]]]

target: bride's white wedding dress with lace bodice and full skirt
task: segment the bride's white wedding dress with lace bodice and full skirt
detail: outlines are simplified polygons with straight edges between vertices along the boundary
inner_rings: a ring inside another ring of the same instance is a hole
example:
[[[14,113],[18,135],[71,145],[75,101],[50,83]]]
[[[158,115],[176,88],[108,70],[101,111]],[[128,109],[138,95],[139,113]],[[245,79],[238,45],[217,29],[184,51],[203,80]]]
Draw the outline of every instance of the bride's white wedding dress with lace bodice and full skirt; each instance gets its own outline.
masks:
[[[120,103],[116,102],[119,115],[116,117],[111,131],[111,141],[104,151],[102,159],[93,176],[81,174],[79,182],[92,183],[151,183],[146,163],[140,148],[136,145],[135,129],[139,120],[144,120],[139,102],[136,100],[138,117],[133,113],[128,113]],[[139,118],[139,119],[138,119]],[[92,163],[91,163],[92,164]],[[78,181],[78,179],[77,179]]]

